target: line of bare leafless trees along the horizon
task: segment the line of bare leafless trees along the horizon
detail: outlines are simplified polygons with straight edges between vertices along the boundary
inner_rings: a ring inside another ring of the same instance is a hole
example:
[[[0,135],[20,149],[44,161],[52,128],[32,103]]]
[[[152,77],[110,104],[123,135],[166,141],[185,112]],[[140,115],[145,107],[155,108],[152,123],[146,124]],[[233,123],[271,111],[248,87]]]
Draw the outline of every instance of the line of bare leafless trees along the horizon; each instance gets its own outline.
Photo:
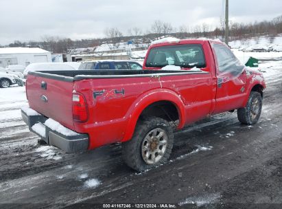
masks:
[[[229,23],[229,39],[242,40],[256,36],[269,36],[274,38],[282,34],[282,15],[272,21],[261,21],[255,23]],[[40,47],[53,53],[67,53],[74,48],[95,47],[102,43],[118,45],[120,42],[132,41],[135,45],[150,43],[150,41],[161,36],[175,36],[178,39],[195,39],[199,37],[211,39],[224,39],[224,21],[220,21],[220,27],[211,28],[211,25],[203,23],[189,27],[182,25],[174,28],[171,23],[154,21],[150,29],[143,31],[141,28],[130,28],[125,34],[118,28],[106,28],[104,39],[82,39],[73,41],[59,36],[43,36],[40,41],[21,42],[14,41],[9,47]],[[270,39],[270,41],[273,39]]]

